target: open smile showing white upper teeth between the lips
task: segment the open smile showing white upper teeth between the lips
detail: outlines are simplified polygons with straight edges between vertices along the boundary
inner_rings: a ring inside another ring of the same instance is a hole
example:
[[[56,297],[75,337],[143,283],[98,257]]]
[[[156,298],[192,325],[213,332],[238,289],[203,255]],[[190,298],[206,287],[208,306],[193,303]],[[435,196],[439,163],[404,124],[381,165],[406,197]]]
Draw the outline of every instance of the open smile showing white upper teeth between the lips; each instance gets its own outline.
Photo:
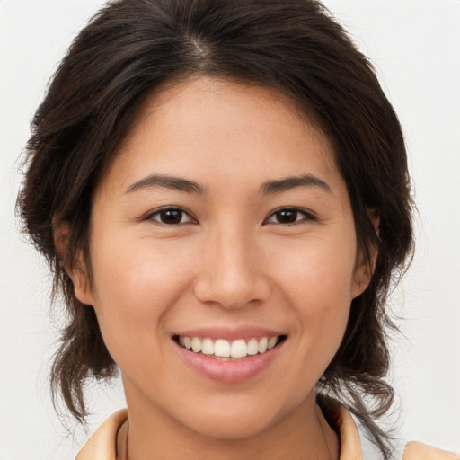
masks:
[[[237,339],[235,341],[227,341],[226,339],[214,340],[174,335],[173,341],[192,353],[199,353],[222,361],[234,361],[264,354],[287,338],[287,335],[279,335],[273,337],[253,337],[249,340]]]

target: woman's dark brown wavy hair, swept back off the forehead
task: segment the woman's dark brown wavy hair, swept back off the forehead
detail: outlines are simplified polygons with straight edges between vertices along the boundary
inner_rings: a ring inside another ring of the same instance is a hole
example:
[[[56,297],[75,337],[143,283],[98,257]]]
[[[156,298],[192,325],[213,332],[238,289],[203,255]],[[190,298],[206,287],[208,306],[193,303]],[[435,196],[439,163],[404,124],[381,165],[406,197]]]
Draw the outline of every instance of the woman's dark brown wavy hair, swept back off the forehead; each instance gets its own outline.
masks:
[[[54,271],[66,299],[51,373],[77,420],[87,415],[84,383],[113,376],[91,305],[76,298],[65,267],[77,254],[90,267],[93,190],[105,164],[160,84],[188,75],[238,79],[278,89],[332,138],[346,181],[358,246],[376,267],[351,304],[341,347],[318,385],[362,420],[385,458],[376,425],[393,401],[385,301],[411,253],[411,196],[403,134],[372,66],[313,0],[119,0],[75,39],[35,114],[28,171],[18,199],[25,230]],[[192,108],[190,108],[192,110]],[[378,237],[368,212],[378,213]],[[69,228],[60,258],[54,229]],[[91,273],[88,273],[91,275]]]

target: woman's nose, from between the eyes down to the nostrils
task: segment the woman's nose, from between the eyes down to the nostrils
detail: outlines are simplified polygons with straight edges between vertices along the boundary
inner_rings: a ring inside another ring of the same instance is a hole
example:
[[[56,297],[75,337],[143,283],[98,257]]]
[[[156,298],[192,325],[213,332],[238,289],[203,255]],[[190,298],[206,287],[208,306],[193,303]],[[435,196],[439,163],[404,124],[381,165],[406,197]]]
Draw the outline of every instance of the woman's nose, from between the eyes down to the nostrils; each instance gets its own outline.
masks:
[[[194,292],[199,301],[227,309],[256,305],[270,296],[261,248],[243,230],[218,229],[207,239],[198,261]]]

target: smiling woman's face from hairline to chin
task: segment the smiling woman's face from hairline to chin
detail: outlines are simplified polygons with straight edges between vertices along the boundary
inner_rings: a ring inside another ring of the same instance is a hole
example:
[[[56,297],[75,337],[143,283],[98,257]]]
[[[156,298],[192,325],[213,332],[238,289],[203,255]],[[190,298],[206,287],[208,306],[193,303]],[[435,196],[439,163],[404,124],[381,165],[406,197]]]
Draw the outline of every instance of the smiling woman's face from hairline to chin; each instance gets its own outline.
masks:
[[[274,90],[204,77],[146,101],[95,192],[90,258],[76,294],[129,410],[217,438],[314,404],[365,288],[328,138]]]

